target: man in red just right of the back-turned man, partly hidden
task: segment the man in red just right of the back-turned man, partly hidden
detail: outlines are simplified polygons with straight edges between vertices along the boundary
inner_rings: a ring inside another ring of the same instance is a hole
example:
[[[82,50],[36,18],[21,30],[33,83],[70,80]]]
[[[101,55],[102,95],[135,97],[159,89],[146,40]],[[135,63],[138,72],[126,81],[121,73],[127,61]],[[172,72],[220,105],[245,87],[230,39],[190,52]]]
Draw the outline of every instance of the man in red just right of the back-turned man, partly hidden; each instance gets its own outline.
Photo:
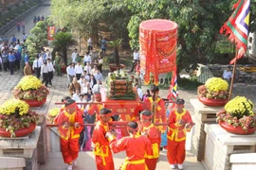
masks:
[[[159,130],[152,123],[152,112],[150,110],[143,110],[140,113],[141,134],[148,137],[151,142],[153,154],[146,154],[145,161],[149,170],[155,170],[157,160],[159,158],[159,147],[161,143],[161,134]]]

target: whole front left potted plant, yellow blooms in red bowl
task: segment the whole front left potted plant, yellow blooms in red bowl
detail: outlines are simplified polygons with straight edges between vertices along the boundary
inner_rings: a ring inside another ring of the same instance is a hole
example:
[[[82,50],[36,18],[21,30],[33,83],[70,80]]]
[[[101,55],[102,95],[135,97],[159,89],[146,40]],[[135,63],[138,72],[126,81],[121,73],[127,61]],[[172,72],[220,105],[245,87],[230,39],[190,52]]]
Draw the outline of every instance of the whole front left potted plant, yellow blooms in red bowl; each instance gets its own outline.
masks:
[[[0,136],[26,136],[35,129],[37,121],[38,114],[22,100],[10,99],[0,106]]]

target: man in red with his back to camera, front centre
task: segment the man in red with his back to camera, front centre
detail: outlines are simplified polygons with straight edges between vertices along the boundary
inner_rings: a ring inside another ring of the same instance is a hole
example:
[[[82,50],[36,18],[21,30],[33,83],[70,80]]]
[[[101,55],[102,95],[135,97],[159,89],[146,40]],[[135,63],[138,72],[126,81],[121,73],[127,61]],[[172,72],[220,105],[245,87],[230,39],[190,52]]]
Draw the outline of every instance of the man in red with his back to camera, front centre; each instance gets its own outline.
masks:
[[[125,161],[122,163],[121,170],[147,170],[144,154],[152,154],[151,143],[145,135],[137,135],[137,123],[129,122],[127,130],[130,136],[116,140],[113,134],[107,133],[106,137],[110,141],[110,147],[114,153],[126,152]]]

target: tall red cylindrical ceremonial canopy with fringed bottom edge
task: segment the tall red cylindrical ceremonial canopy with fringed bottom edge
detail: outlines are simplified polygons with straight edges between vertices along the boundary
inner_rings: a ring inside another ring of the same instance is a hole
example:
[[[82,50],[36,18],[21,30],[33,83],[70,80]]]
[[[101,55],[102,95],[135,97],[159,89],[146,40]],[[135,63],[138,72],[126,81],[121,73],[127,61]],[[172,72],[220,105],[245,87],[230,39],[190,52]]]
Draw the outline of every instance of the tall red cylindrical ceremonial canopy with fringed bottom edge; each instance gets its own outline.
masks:
[[[177,24],[169,20],[147,20],[139,25],[140,65],[145,70],[144,80],[150,82],[155,76],[176,71]]]

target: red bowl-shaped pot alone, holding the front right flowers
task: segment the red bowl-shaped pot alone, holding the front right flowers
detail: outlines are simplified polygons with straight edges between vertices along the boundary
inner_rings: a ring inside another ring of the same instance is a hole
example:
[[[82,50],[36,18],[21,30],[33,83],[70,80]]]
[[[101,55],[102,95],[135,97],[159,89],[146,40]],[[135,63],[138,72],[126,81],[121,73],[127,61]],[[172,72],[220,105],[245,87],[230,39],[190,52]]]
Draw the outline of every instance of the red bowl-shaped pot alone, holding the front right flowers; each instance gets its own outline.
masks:
[[[224,129],[226,129],[226,131],[228,131],[230,133],[240,134],[240,135],[247,135],[247,134],[254,133],[256,131],[256,127],[249,128],[247,131],[245,131],[245,130],[243,130],[242,127],[233,127],[224,121],[219,121],[219,125],[221,127],[223,127]]]

